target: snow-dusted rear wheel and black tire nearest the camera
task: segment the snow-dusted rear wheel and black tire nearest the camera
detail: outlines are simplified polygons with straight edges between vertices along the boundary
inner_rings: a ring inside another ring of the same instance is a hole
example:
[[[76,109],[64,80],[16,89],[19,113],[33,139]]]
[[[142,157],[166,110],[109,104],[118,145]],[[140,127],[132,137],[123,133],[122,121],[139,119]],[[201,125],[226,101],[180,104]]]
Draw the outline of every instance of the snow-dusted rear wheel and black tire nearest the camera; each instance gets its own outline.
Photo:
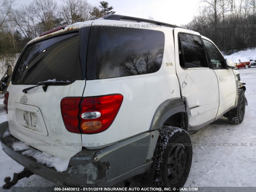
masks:
[[[184,186],[192,163],[192,143],[189,134],[181,129],[163,126],[157,142],[154,187]]]

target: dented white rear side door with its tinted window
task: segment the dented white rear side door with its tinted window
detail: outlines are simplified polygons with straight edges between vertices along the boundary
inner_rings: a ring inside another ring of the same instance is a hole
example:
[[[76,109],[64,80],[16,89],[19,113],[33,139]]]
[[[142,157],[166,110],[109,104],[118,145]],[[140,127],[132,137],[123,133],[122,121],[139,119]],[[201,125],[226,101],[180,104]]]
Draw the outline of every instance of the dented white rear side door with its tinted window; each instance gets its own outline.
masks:
[[[208,66],[200,34],[174,29],[176,73],[190,108],[190,130],[215,120],[219,106],[216,74]]]

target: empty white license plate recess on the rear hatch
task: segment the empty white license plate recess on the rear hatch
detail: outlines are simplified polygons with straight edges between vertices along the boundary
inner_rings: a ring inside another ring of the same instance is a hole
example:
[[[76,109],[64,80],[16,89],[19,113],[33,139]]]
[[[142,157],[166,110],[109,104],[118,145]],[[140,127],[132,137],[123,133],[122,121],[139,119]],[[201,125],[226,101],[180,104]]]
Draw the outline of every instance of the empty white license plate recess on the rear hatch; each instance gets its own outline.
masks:
[[[48,135],[42,113],[36,106],[16,103],[15,121],[18,128],[44,136]]]

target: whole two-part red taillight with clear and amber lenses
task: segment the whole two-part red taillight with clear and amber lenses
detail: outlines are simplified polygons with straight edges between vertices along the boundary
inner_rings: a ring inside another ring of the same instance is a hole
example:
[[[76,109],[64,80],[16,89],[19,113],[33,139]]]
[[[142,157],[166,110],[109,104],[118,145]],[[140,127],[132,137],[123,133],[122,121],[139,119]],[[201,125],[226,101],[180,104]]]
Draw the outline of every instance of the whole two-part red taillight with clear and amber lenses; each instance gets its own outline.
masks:
[[[90,98],[64,98],[61,112],[66,129],[70,132],[94,134],[112,124],[123,96],[120,94]]]

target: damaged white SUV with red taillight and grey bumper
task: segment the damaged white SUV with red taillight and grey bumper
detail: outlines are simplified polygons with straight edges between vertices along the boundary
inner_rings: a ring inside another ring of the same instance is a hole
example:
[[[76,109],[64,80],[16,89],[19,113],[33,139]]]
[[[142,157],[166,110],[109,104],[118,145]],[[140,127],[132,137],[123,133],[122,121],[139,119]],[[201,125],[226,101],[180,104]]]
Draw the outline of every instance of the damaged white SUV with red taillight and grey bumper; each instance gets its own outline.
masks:
[[[162,22],[108,15],[55,28],[18,59],[2,147],[25,167],[20,178],[80,187],[136,176],[178,188],[192,162],[187,132],[223,115],[243,121],[245,87],[232,68],[208,38]]]

